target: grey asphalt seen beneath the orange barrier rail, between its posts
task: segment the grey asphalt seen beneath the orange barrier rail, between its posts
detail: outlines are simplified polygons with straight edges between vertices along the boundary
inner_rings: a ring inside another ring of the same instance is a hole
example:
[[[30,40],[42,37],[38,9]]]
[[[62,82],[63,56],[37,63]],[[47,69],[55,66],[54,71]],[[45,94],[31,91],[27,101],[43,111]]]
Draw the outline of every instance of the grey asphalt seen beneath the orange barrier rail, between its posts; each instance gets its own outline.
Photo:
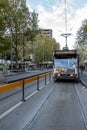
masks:
[[[49,77],[46,78],[47,83],[49,82]],[[44,78],[39,80],[39,89],[45,84]],[[24,98],[26,99],[29,95],[37,91],[37,81],[24,86]],[[0,94],[0,114],[8,111],[20,101],[22,101],[22,87],[15,88],[11,91]]]

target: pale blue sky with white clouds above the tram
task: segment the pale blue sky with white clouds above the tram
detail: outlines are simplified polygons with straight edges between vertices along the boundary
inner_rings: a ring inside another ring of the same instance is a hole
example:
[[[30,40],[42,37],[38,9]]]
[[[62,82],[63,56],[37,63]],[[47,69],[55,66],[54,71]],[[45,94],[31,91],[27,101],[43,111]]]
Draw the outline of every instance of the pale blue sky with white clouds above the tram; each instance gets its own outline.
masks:
[[[35,10],[38,13],[39,28],[52,29],[53,38],[60,43],[61,49],[66,45],[65,37],[61,34],[70,33],[67,45],[69,49],[73,49],[76,33],[82,21],[87,19],[87,0],[26,0],[26,2],[30,11]],[[67,10],[67,32],[65,9]]]

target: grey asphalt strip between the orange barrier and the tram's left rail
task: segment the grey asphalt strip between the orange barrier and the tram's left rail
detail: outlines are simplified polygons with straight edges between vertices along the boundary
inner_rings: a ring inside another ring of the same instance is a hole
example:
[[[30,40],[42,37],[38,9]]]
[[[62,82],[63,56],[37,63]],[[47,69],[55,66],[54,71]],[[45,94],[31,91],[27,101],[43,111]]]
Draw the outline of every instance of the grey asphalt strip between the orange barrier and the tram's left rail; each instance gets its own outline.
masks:
[[[0,130],[23,130],[33,120],[48,96],[54,84],[43,86],[40,91],[28,95],[25,102],[19,102],[0,115]],[[10,99],[11,100],[11,99]]]

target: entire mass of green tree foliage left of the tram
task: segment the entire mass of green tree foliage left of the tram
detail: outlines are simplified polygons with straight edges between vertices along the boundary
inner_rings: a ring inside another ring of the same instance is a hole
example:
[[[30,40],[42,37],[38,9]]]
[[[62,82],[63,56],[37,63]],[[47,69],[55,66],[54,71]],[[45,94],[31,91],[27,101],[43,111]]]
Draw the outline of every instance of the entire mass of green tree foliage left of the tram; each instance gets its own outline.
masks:
[[[0,0],[0,57],[29,59],[36,63],[52,61],[53,51],[59,48],[55,39],[38,30],[38,14],[30,12],[25,0]]]

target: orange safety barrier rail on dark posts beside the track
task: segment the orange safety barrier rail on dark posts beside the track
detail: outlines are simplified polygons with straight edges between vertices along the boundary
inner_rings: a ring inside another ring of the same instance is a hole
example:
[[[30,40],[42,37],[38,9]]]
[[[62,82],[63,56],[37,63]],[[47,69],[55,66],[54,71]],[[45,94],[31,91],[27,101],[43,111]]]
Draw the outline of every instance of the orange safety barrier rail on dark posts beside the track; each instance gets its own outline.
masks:
[[[52,75],[52,72],[46,72],[43,74],[20,79],[19,81],[15,81],[14,83],[2,85],[2,86],[0,86],[0,93],[4,93],[4,92],[7,92],[7,91],[10,91],[10,90],[13,90],[15,88],[22,86],[22,101],[25,101],[25,98],[24,98],[25,85],[37,80],[37,90],[39,90],[39,79],[45,77],[45,85],[46,85],[46,77],[49,76],[49,81],[50,81],[51,75]]]

